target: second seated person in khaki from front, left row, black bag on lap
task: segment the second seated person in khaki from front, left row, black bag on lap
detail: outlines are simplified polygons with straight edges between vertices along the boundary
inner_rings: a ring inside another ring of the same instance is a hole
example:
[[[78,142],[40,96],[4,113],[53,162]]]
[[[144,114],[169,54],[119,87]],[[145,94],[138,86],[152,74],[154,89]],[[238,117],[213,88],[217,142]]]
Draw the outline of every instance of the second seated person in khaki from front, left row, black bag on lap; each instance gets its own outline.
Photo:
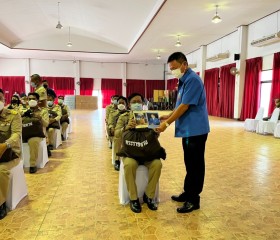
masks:
[[[39,99],[38,93],[29,93],[29,109],[22,116],[22,139],[28,142],[30,151],[29,173],[37,172],[36,161],[38,159],[39,146],[46,134],[46,127],[49,125],[49,113],[46,108],[38,106]]]

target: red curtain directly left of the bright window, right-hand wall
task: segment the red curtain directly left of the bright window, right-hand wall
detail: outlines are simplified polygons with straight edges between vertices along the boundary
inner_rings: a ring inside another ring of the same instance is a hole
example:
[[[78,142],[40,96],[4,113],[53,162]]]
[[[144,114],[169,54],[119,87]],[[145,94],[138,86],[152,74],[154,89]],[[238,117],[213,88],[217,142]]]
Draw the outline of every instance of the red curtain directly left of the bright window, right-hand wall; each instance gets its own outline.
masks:
[[[254,118],[260,101],[262,57],[246,60],[245,86],[240,120]]]

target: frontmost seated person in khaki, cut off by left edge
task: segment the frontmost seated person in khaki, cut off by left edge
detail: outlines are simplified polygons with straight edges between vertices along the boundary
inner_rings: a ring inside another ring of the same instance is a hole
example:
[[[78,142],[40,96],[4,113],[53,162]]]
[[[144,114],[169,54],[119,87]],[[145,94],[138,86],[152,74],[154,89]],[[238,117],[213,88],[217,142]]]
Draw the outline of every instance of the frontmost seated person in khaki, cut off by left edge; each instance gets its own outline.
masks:
[[[10,169],[20,161],[18,156],[20,155],[21,137],[20,114],[15,110],[4,108],[4,103],[4,91],[0,89],[0,220],[7,215],[6,200],[10,183]],[[5,157],[11,150],[12,157]]]

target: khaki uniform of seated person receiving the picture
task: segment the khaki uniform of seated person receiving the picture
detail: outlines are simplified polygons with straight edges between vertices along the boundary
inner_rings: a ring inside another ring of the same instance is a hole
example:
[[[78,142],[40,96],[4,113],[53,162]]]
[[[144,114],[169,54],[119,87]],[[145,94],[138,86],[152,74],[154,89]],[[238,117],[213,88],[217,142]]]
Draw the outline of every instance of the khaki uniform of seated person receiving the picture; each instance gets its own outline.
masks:
[[[128,124],[128,121],[133,118],[133,112],[127,112],[119,116],[116,128],[115,128],[115,137],[122,138],[122,133]],[[128,130],[129,131],[129,130]],[[129,193],[130,200],[136,200],[137,195],[137,186],[135,183],[136,180],[136,170],[138,168],[138,162],[129,157],[123,157],[123,166],[124,166],[124,176],[127,185],[127,191]],[[144,165],[148,168],[149,180],[146,187],[145,193],[149,198],[154,198],[156,186],[160,178],[162,163],[160,159],[154,159],[153,161],[145,162]]]

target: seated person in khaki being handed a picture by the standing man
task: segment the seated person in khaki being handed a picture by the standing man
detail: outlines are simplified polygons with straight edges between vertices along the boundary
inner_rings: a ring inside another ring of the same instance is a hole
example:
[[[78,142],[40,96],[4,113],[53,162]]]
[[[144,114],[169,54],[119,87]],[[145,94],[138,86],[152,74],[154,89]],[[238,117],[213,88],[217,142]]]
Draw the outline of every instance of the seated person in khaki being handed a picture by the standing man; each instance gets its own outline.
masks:
[[[135,120],[133,118],[133,111],[141,111],[144,98],[141,94],[133,93],[128,97],[128,103],[131,111],[120,115],[116,128],[115,136],[121,138],[124,131],[129,131],[136,127]],[[140,213],[142,208],[137,196],[136,170],[139,162],[133,158],[123,157],[124,175],[127,185],[127,190],[130,198],[130,209],[135,213]],[[149,180],[146,191],[143,196],[143,200],[147,203],[148,208],[151,210],[157,210],[157,204],[154,202],[156,186],[160,178],[162,163],[160,159],[154,159],[152,161],[145,161],[143,163],[149,171]]]

